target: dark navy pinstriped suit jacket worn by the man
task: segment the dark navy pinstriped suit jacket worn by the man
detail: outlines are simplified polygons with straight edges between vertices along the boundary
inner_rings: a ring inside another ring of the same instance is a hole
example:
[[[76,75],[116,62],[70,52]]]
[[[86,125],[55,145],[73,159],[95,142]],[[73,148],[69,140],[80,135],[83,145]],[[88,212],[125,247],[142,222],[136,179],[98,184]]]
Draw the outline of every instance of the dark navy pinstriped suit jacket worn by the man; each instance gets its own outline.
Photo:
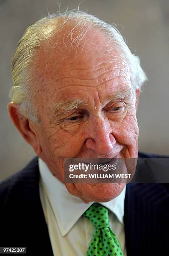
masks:
[[[127,184],[124,227],[128,256],[168,256],[169,185]],[[27,247],[29,256],[53,256],[40,202],[38,157],[0,183],[0,247],[5,246]]]

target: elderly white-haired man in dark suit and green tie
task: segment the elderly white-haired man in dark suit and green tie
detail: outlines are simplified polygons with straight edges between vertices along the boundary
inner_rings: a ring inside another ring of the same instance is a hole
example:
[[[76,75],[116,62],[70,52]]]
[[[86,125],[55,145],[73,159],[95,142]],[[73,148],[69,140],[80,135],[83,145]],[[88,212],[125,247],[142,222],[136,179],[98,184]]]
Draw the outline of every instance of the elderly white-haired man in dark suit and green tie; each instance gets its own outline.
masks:
[[[83,12],[28,27],[10,118],[35,157],[0,185],[0,246],[28,255],[168,255],[166,187],[64,182],[64,159],[136,159],[146,75],[113,26]],[[139,157],[149,157],[139,154]]]

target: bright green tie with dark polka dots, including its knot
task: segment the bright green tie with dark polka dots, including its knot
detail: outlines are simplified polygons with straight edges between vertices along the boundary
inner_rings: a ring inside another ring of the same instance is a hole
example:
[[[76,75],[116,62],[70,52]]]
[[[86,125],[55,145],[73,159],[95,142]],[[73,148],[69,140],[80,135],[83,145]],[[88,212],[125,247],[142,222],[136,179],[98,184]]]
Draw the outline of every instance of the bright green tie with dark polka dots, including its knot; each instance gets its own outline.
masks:
[[[124,256],[119,240],[110,228],[108,209],[93,203],[83,215],[96,227],[87,256]]]

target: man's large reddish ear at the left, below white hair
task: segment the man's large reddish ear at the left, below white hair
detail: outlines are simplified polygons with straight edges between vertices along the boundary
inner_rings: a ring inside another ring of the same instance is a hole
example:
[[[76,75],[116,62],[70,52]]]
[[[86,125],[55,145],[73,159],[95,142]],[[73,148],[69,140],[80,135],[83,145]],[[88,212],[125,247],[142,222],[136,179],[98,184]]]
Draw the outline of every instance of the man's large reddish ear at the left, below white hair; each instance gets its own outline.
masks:
[[[36,124],[20,114],[18,104],[13,101],[8,103],[8,113],[23,138],[33,147],[36,154],[40,154],[42,149],[35,129]]]

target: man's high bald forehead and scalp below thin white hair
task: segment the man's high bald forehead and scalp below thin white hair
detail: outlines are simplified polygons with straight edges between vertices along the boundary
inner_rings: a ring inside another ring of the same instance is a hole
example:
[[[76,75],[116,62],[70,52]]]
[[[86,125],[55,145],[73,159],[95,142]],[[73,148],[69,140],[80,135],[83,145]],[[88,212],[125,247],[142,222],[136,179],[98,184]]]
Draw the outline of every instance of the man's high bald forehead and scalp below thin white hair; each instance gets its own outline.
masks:
[[[45,79],[70,71],[86,75],[93,69],[126,70],[129,66],[118,46],[103,31],[64,28],[53,33],[49,41],[42,41],[35,56],[34,70],[40,83]]]

